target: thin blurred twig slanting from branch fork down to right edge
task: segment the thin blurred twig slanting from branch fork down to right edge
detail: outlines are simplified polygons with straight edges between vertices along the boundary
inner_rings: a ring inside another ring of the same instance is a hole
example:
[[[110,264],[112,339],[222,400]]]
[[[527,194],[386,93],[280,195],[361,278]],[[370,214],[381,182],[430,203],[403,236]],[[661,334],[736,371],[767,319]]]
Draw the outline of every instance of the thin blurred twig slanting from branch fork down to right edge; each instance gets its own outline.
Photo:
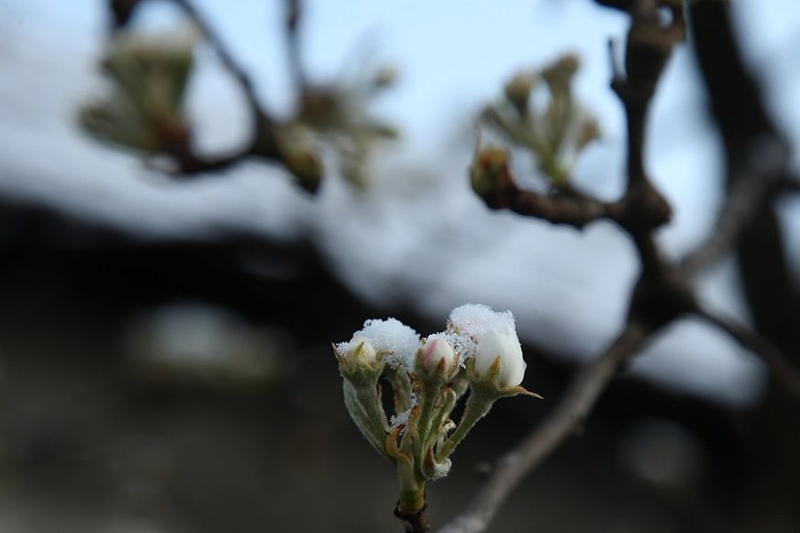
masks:
[[[798,371],[781,351],[769,340],[736,321],[708,310],[701,310],[698,316],[714,324],[733,337],[767,364],[775,379],[787,391],[800,398],[800,371]]]

